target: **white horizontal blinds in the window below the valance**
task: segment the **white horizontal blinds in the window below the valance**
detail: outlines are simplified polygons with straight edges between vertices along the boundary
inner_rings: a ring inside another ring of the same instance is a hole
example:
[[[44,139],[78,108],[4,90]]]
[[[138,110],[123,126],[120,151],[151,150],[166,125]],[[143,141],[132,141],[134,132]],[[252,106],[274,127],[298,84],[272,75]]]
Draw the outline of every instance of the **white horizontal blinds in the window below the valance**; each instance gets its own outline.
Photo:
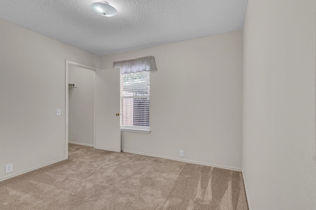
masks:
[[[121,74],[121,125],[149,127],[150,73]]]

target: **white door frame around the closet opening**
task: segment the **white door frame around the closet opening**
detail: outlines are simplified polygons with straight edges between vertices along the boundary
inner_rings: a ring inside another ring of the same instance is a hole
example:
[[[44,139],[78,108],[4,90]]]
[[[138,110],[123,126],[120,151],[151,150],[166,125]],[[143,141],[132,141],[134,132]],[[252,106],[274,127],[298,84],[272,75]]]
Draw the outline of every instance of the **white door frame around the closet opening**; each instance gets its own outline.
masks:
[[[69,84],[69,66],[75,66],[80,68],[85,68],[88,70],[94,71],[94,78],[93,78],[93,148],[95,148],[95,128],[96,128],[96,99],[95,99],[95,70],[99,70],[99,68],[84,65],[81,63],[73,62],[70,60],[65,60],[65,157],[68,158],[68,124],[69,124],[69,90],[68,90],[68,84]]]

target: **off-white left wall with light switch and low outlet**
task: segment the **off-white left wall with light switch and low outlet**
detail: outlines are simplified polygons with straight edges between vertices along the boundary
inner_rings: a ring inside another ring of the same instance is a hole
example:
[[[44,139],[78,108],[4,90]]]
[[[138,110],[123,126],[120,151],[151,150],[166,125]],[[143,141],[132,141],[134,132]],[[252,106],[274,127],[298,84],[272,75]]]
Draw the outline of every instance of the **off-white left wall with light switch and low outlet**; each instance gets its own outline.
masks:
[[[65,158],[65,60],[100,57],[3,20],[0,37],[1,180]]]

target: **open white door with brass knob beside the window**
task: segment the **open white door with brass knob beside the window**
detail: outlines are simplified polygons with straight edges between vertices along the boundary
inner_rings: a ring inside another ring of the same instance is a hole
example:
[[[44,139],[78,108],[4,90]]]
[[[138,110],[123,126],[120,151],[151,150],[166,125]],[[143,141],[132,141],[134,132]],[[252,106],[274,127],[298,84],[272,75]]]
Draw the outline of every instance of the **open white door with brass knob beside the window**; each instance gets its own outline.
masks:
[[[120,69],[101,69],[95,74],[95,149],[120,152]]]

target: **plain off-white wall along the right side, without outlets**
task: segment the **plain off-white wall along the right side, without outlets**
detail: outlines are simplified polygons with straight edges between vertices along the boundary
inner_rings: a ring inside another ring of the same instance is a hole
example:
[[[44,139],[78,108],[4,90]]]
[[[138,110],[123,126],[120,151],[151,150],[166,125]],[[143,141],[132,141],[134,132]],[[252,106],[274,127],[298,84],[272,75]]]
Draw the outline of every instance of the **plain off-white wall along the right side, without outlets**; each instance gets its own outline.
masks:
[[[249,0],[243,175],[252,210],[316,209],[316,1]]]

